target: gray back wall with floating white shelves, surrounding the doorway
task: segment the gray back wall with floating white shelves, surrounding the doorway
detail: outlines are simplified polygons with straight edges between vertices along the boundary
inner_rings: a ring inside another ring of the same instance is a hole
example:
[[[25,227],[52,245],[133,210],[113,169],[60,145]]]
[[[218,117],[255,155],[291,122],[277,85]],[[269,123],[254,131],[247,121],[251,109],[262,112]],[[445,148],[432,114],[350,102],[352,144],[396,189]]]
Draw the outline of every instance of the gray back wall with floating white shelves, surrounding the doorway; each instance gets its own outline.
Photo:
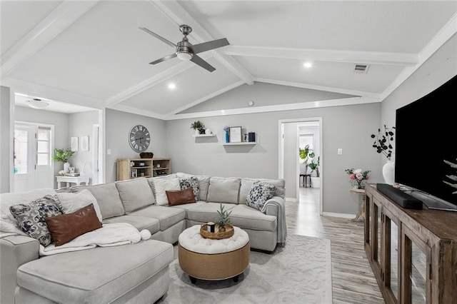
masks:
[[[246,98],[259,96],[264,96],[264,92],[253,91]],[[371,147],[370,137],[380,125],[379,113],[381,104],[371,103],[201,118],[206,127],[216,133],[216,138],[193,138],[190,125],[197,119],[167,121],[167,136],[173,138],[167,142],[167,148],[174,172],[278,178],[278,121],[322,117],[323,211],[355,214],[358,211],[358,197],[349,193],[351,184],[344,170],[351,167],[372,170],[371,181],[382,181],[381,159]],[[252,148],[221,146],[219,143],[224,141],[224,126],[243,126],[248,131],[256,132],[258,145]],[[343,148],[342,156],[337,155],[338,148]],[[295,147],[293,150],[296,155]],[[286,196],[294,197],[289,187],[293,191],[293,187],[286,183]]]

